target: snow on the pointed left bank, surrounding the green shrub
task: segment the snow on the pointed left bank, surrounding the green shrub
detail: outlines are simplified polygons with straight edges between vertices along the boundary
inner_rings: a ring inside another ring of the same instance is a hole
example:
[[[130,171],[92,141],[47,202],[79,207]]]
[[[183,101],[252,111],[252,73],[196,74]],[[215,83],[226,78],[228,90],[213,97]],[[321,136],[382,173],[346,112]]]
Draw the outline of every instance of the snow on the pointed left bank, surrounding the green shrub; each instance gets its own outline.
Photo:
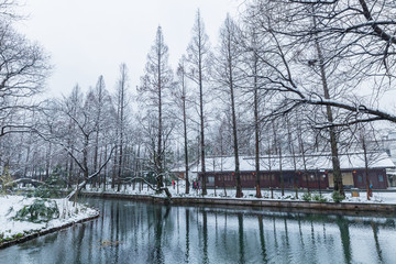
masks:
[[[76,207],[73,207],[72,201],[67,201],[65,199],[52,199],[57,204],[59,218],[42,223],[18,221],[12,219],[24,206],[32,205],[34,199],[36,198],[26,198],[23,196],[0,196],[0,241],[1,239],[7,240],[7,238],[12,238],[18,234],[21,235],[32,233],[34,231],[58,228],[97,215],[96,210],[87,208],[84,205],[76,204]]]

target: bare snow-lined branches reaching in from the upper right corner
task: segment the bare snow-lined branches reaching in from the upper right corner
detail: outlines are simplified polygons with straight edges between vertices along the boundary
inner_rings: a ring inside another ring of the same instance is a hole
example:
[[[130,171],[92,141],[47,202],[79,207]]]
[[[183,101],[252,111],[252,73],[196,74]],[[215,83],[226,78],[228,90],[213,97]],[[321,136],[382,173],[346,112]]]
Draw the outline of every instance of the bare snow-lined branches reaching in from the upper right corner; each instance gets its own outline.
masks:
[[[262,48],[267,51],[263,61],[274,69],[274,75],[262,77],[273,84],[273,90],[285,95],[285,100],[276,109],[277,113],[290,111],[301,105],[330,106],[349,112],[343,124],[396,121],[396,116],[381,109],[377,100],[394,79],[389,70],[395,65],[395,40],[389,33],[395,31],[393,4],[365,0],[296,0],[292,3],[283,0],[254,0],[246,10],[256,11],[251,22],[255,21],[255,26],[268,36],[266,43],[262,44]],[[348,96],[327,99],[307,86],[310,78],[306,82],[304,78],[299,78],[299,75],[309,77],[308,68],[318,63],[318,59],[304,55],[307,54],[305,47],[312,45],[316,40],[326,43],[331,50],[323,57],[323,63],[333,64],[333,70],[340,73],[338,76],[344,76],[343,81],[338,82],[338,90],[348,90]],[[373,87],[370,100],[353,92],[354,88],[369,84]],[[339,122],[331,123],[337,124]]]

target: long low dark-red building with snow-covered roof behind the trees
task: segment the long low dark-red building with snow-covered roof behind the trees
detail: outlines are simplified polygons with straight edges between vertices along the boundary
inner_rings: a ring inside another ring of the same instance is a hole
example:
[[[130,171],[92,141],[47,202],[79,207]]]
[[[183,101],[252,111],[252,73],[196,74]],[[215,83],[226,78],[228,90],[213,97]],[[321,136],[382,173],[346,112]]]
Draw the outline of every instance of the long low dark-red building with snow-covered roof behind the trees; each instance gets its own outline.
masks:
[[[208,187],[234,187],[234,158],[206,158]],[[301,156],[262,156],[260,158],[261,187],[285,188],[333,188],[332,163],[330,155],[310,154]],[[340,155],[342,180],[345,188],[365,188],[365,163],[363,154]],[[240,158],[241,182],[244,188],[255,187],[255,160],[250,156]],[[389,187],[387,169],[395,169],[395,164],[386,153],[369,154],[369,182],[375,189]],[[193,166],[201,180],[200,166]],[[283,179],[283,180],[282,180]]]

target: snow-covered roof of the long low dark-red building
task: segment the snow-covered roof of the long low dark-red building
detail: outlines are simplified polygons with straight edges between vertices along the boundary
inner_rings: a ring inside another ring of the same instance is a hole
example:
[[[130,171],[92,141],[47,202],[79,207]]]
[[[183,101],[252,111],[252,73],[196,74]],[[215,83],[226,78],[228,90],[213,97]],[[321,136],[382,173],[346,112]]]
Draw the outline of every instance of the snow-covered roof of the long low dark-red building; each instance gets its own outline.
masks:
[[[341,169],[356,169],[364,168],[364,155],[359,154],[342,154],[339,156]],[[386,153],[370,153],[367,155],[370,168],[389,168],[395,167],[389,156]],[[305,161],[305,162],[304,162]],[[235,170],[234,157],[208,157],[205,158],[206,172],[233,172]],[[260,170],[279,170],[279,156],[261,156]],[[310,154],[302,156],[284,156],[282,157],[283,170],[312,170],[312,169],[332,169],[331,155]],[[193,166],[190,172],[200,173],[201,166]],[[253,156],[240,157],[241,172],[254,172],[255,158]]]

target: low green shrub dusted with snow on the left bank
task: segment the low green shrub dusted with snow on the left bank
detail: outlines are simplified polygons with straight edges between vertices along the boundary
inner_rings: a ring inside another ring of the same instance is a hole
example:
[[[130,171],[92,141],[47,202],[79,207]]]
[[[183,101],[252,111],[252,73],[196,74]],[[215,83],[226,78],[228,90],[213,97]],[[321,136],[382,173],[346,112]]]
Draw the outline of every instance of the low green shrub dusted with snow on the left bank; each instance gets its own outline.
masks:
[[[13,218],[19,221],[34,223],[48,222],[59,217],[59,209],[55,201],[46,199],[35,199],[32,205],[24,206]]]

